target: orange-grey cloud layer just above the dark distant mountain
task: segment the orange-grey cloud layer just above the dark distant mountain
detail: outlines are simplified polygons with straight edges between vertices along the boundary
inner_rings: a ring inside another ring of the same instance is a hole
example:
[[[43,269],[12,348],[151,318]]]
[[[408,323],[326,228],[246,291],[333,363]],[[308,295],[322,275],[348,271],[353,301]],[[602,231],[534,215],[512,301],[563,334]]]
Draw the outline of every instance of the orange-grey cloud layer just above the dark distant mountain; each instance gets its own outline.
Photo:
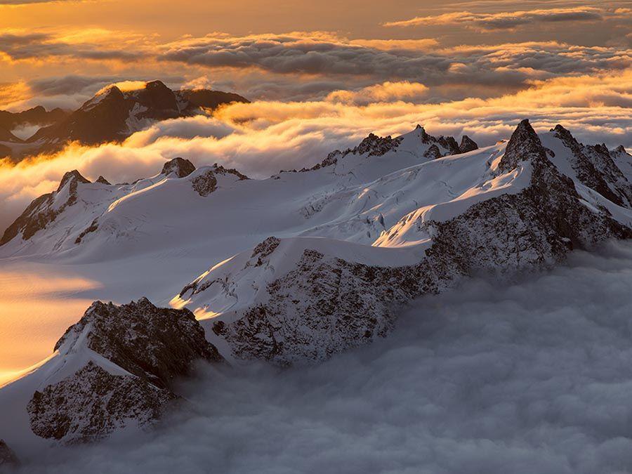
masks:
[[[64,99],[76,107],[107,82],[156,78],[178,86],[210,77],[207,84],[251,100],[321,100],[336,90],[387,81],[423,84],[430,90],[417,98],[424,102],[487,98],[536,79],[625,70],[632,53],[626,46],[559,41],[446,47],[436,39],[348,39],[331,32],[213,33],[162,43],[150,35],[94,29],[0,31],[3,60],[8,67],[37,70],[63,62],[84,71],[22,79],[6,85],[11,94],[0,89],[0,107],[20,109],[63,105]],[[164,77],[174,62],[182,74]],[[100,73],[88,74],[93,67]]]

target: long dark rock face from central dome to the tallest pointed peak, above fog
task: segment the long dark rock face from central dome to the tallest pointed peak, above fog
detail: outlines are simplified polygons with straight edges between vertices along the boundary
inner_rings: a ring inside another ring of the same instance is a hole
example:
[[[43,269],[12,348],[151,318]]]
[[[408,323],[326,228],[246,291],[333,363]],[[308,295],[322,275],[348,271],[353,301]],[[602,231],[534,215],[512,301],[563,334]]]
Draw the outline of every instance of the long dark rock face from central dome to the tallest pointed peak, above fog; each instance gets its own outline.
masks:
[[[522,192],[474,204],[445,222],[420,222],[433,235],[421,262],[371,267],[307,249],[294,270],[268,285],[265,302],[231,322],[219,320],[213,331],[235,357],[281,365],[314,362],[388,334],[393,308],[454,287],[462,277],[488,272],[511,278],[562,261],[572,249],[632,238],[632,229],[607,211],[595,213],[581,204],[573,181],[548,160],[523,121],[501,166],[508,172],[527,161],[532,176]]]

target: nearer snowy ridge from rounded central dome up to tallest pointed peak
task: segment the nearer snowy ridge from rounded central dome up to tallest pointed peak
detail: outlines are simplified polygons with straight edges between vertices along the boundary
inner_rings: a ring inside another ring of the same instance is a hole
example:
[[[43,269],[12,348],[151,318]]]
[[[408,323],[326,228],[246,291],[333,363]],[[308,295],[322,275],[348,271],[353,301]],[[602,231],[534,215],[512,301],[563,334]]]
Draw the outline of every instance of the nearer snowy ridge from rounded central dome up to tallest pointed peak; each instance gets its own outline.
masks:
[[[506,147],[431,160],[364,185],[376,211],[392,204],[387,190],[396,188],[401,216],[379,214],[384,230],[373,246],[270,237],[213,265],[172,304],[194,309],[225,357],[303,364],[388,334],[398,304],[468,275],[511,277],[546,268],[572,249],[631,238],[630,209],[560,173],[554,154],[564,157],[522,121]],[[435,191],[424,204],[434,183],[449,194],[442,199]],[[402,216],[408,199],[416,209]],[[353,223],[349,211],[338,218],[341,228]]]

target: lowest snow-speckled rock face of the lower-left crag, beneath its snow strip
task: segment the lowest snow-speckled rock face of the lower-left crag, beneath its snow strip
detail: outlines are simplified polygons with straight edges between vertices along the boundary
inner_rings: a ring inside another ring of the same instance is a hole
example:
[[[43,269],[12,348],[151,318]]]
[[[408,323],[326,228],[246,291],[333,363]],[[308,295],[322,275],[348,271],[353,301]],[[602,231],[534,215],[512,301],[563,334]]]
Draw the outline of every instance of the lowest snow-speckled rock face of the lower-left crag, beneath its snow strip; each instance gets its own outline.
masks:
[[[35,392],[27,406],[33,433],[65,444],[102,440],[114,430],[150,426],[176,396],[136,376],[112,375],[94,362]]]

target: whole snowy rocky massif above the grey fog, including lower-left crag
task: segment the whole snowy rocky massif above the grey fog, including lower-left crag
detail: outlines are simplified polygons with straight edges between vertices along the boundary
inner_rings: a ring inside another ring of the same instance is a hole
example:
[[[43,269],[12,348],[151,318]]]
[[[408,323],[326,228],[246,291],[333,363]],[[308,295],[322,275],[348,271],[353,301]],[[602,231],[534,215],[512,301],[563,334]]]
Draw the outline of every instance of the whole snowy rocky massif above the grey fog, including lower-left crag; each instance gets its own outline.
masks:
[[[626,150],[581,145],[561,126],[536,133],[527,119],[507,142],[455,146],[419,126],[265,180],[181,157],[131,185],[65,173],[5,232],[0,256],[108,265],[177,249],[169,275],[186,252],[210,266],[169,295],[173,309],[93,303],[51,360],[0,390],[0,406],[20,413],[28,442],[100,440],[151,426],[178,400],[171,374],[195,358],[316,364],[388,336],[418,296],[632,238]],[[184,363],[165,369],[172,353]],[[10,435],[0,430],[13,446]]]

